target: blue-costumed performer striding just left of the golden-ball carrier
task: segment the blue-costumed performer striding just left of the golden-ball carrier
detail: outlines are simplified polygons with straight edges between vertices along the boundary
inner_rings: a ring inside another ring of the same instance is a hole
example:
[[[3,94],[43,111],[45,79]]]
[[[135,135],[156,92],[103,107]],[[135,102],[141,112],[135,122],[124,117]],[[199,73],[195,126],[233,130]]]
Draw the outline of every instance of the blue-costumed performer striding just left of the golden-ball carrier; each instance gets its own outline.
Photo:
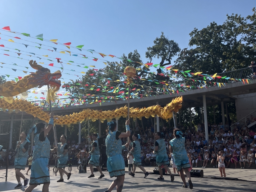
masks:
[[[105,175],[102,173],[100,168],[100,149],[97,133],[92,134],[92,140],[92,150],[89,152],[91,154],[91,159],[88,163],[92,174],[88,178],[95,177],[93,174],[93,166],[95,166],[100,172],[100,177],[98,179],[102,179],[103,177],[105,177]]]

